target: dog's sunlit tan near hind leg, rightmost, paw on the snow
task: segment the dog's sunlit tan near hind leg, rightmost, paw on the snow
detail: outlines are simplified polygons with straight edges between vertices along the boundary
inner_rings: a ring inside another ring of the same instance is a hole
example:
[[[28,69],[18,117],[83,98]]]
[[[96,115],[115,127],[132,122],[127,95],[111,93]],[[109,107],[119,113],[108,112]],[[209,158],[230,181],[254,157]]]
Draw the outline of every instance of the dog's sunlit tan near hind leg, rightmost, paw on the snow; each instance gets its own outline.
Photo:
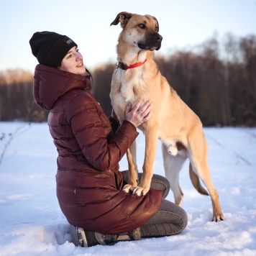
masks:
[[[207,144],[204,133],[197,133],[191,136],[188,147],[188,157],[191,160],[193,171],[198,174],[199,178],[203,180],[204,185],[211,196],[211,204],[213,208],[213,221],[224,220],[219,204],[219,195],[211,182],[211,173],[207,163]]]

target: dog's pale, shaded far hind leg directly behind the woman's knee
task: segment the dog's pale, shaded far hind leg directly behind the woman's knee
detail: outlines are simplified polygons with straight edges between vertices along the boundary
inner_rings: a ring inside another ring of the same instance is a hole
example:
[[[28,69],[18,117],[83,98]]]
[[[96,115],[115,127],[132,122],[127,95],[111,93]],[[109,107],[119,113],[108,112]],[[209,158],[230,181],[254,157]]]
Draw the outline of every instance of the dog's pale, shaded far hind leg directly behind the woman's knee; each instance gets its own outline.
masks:
[[[183,191],[180,188],[179,175],[186,157],[183,155],[170,155],[168,147],[162,143],[163,165],[165,168],[165,177],[170,182],[170,189],[173,191],[175,204],[181,206],[183,201]]]

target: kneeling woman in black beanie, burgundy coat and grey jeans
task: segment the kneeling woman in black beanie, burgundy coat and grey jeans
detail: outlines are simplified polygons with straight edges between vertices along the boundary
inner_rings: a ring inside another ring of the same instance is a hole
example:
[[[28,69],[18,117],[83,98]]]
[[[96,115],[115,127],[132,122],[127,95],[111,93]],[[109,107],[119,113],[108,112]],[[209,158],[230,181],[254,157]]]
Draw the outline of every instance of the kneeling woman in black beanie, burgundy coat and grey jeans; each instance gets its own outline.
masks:
[[[127,172],[119,172],[119,161],[137,137],[136,127],[150,118],[150,102],[141,106],[140,99],[133,108],[127,104],[126,120],[119,126],[115,114],[108,119],[91,95],[91,74],[73,40],[36,32],[29,43],[40,63],[35,68],[35,101],[50,111],[48,124],[58,151],[60,209],[78,228],[81,244],[181,232],[186,212],[162,199],[169,191],[165,178],[154,175],[155,189],[145,196],[122,191]]]

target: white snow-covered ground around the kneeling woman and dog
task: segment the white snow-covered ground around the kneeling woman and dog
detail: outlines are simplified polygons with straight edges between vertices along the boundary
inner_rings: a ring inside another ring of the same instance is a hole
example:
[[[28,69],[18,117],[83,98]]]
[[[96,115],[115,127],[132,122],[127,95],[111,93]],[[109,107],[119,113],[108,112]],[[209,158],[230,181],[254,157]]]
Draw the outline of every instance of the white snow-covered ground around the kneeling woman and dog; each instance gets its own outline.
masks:
[[[188,162],[180,173],[188,226],[178,235],[77,246],[55,196],[57,152],[47,124],[0,122],[0,155],[9,133],[19,131],[0,165],[0,255],[256,255],[256,128],[204,128],[211,178],[225,220],[212,222],[211,200],[193,188]],[[137,139],[141,170],[145,138]],[[124,157],[120,170],[127,169]],[[164,175],[160,142],[155,173]],[[173,201],[170,191],[168,200]]]

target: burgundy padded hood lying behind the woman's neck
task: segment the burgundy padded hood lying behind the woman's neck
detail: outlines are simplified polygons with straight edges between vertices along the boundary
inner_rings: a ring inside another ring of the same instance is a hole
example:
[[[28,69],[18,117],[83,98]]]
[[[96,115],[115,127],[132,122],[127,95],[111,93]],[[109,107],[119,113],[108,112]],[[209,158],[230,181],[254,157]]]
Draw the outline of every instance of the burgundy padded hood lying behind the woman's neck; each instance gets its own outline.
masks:
[[[38,64],[35,67],[34,99],[45,110],[50,110],[60,96],[72,89],[90,89],[91,83],[87,76],[50,68]]]

